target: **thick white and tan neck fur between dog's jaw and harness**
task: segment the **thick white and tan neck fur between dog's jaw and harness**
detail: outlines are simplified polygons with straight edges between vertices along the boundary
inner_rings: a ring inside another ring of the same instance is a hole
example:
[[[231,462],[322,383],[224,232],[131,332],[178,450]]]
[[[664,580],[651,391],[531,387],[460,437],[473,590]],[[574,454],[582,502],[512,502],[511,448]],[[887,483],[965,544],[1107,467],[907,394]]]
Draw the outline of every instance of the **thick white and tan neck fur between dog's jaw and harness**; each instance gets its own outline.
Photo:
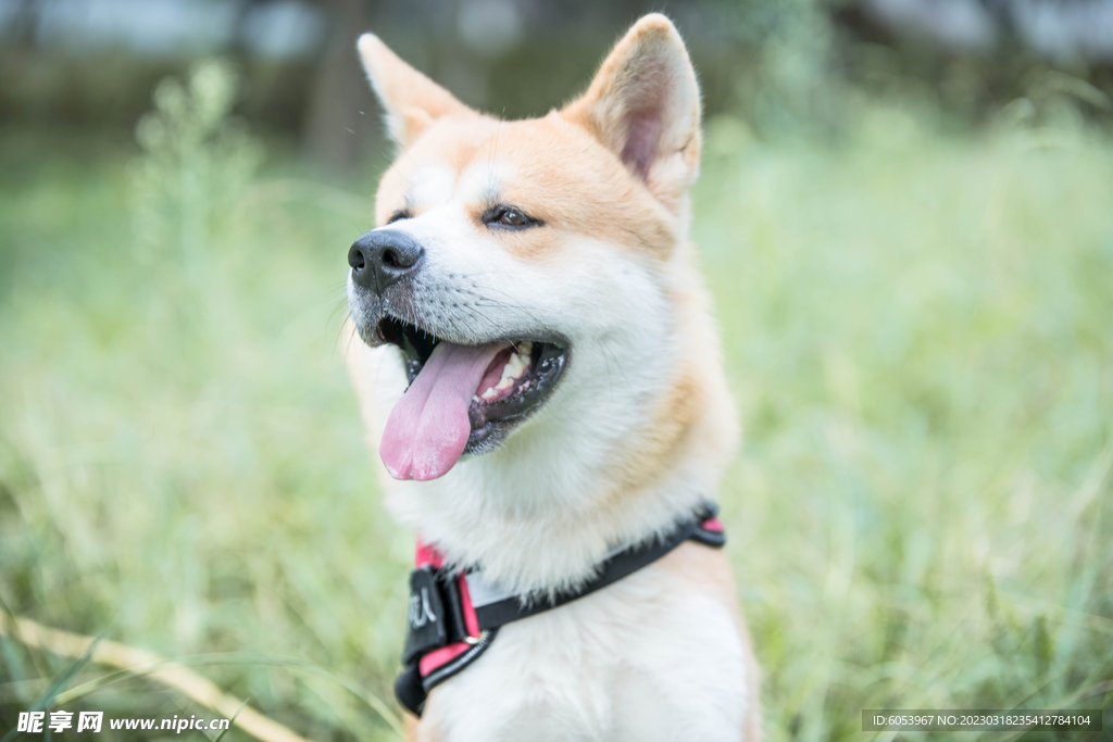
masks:
[[[590,419],[588,410],[564,408],[563,419],[526,425],[441,479],[392,487],[387,506],[450,564],[482,565],[502,587],[575,587],[612,548],[668,532],[716,496],[736,431],[713,330],[705,327],[707,337],[689,339],[705,354],[688,357],[711,363],[672,369],[676,383],[650,405],[667,422],[647,415],[589,434],[572,423]],[[614,400],[618,409],[628,403]],[[602,413],[595,419],[614,410]]]

